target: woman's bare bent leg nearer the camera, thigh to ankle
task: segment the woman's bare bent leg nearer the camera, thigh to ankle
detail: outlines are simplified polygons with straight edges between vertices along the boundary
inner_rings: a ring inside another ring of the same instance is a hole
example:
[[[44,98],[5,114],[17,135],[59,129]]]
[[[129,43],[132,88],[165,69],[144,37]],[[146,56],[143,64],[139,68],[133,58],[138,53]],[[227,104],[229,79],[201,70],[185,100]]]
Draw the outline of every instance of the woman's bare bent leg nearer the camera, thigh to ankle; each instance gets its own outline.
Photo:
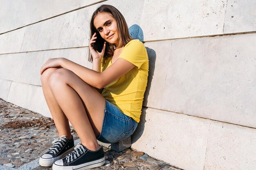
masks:
[[[49,77],[49,87],[58,105],[76,130],[81,144],[97,150],[105,99],[72,71],[60,68]]]

